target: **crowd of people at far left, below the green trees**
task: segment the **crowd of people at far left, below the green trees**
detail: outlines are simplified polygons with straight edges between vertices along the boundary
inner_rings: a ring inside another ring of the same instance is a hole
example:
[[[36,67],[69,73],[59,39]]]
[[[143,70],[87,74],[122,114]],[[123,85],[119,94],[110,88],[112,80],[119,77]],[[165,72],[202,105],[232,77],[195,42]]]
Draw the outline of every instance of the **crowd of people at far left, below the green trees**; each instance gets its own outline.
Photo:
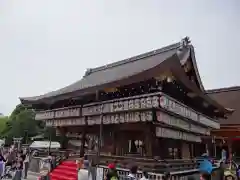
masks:
[[[1,179],[12,178],[20,180],[27,179],[29,167],[29,152],[27,149],[2,148],[0,153],[0,175]]]

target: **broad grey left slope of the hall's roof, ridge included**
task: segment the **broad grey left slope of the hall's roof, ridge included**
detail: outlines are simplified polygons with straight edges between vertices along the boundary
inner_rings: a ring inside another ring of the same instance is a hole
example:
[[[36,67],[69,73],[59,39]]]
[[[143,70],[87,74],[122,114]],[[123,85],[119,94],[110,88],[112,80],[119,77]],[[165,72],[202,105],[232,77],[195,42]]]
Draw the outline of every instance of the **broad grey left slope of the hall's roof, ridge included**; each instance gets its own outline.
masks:
[[[38,101],[130,77],[160,64],[167,58],[176,54],[180,46],[180,43],[175,43],[122,61],[94,69],[88,69],[81,80],[69,86],[40,96],[22,97],[20,100],[22,102]]]

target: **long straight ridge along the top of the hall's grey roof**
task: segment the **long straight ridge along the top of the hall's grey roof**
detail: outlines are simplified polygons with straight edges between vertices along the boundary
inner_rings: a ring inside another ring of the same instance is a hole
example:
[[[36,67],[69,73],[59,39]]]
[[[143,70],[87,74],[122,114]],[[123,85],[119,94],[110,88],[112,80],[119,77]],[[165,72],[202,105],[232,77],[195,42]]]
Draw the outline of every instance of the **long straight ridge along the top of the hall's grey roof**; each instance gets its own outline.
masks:
[[[109,63],[109,64],[104,65],[104,66],[99,66],[99,67],[96,67],[96,68],[90,68],[90,69],[87,69],[87,70],[86,70],[84,77],[90,75],[91,73],[97,72],[97,71],[102,71],[102,70],[105,70],[105,69],[108,69],[108,68],[113,68],[113,67],[116,67],[116,66],[121,66],[121,65],[123,65],[123,64],[127,64],[127,63],[130,63],[130,62],[134,62],[134,61],[137,61],[137,60],[140,60],[140,59],[149,57],[149,56],[154,56],[154,55],[156,55],[156,54],[164,53],[164,52],[166,52],[166,51],[170,51],[170,50],[173,50],[173,49],[177,49],[177,48],[179,48],[179,47],[181,47],[181,42],[174,43],[174,44],[165,46],[165,47],[163,47],[163,48],[155,49],[155,50],[152,50],[152,51],[143,53],[143,54],[139,54],[139,55],[137,55],[137,56],[133,56],[133,57],[130,57],[130,58],[126,58],[126,59],[124,59],[124,60],[120,60],[120,61],[116,61],[116,62],[113,62],[113,63]]]

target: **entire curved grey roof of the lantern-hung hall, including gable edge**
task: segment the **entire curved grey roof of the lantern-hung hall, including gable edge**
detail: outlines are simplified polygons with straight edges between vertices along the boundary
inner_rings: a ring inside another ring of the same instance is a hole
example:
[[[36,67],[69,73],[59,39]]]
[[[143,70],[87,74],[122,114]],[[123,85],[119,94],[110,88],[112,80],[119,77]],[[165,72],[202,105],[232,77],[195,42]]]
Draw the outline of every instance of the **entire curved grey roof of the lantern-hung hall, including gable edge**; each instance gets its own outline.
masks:
[[[106,86],[114,85],[116,87],[119,85],[125,85],[127,83],[133,83],[136,82],[137,78],[135,76],[139,75],[139,79],[143,80],[144,78],[149,78],[151,73],[153,74],[154,71],[155,75],[156,73],[160,73],[160,69],[163,70],[163,67],[159,68],[159,65],[161,64],[168,64],[168,68],[173,68],[175,64],[175,68],[178,69],[179,73],[181,71],[182,81],[185,81],[185,84],[188,84],[189,87],[192,86],[192,83],[189,83],[188,79],[184,75],[184,72],[182,72],[182,68],[179,70],[179,67],[181,64],[184,64],[186,59],[188,59],[189,56],[191,56],[194,71],[197,78],[197,86],[196,84],[193,89],[195,89],[195,92],[198,92],[201,94],[201,96],[204,96],[204,88],[201,82],[201,78],[198,73],[196,59],[195,59],[195,53],[194,48],[192,45],[189,45],[188,38],[185,38],[182,42],[175,43],[166,47],[163,47],[161,49],[153,50],[138,56],[134,56],[122,61],[114,62],[111,64],[107,64],[105,66],[101,66],[94,69],[88,69],[85,73],[85,76],[64,88],[61,88],[56,91],[52,91],[49,93],[46,93],[44,95],[40,96],[34,96],[34,97],[24,97],[20,98],[22,103],[40,103],[40,102],[47,102],[50,100],[57,101],[61,99],[68,99],[73,98],[77,96],[83,96],[86,93],[92,93],[96,90],[106,88]],[[185,44],[184,44],[185,43]],[[171,57],[177,55],[177,57],[172,61],[172,64],[170,64],[169,59]],[[169,61],[169,63],[165,63],[166,61]],[[176,65],[176,62],[178,61],[178,65]],[[176,67],[179,66],[179,67]],[[157,67],[157,68],[156,68]],[[155,69],[155,70],[154,70]],[[148,72],[151,70],[151,73]],[[159,74],[158,74],[159,75]],[[153,76],[151,76],[153,77]],[[180,78],[180,77],[179,77]],[[139,80],[138,79],[138,80]],[[192,86],[192,87],[193,87]],[[110,86],[111,87],[111,86]],[[190,89],[192,89],[192,87]],[[98,88],[98,89],[97,89]],[[215,104],[217,107],[219,107],[215,102],[212,102],[211,99],[208,97],[207,100],[210,103]],[[222,107],[220,107],[222,109]]]

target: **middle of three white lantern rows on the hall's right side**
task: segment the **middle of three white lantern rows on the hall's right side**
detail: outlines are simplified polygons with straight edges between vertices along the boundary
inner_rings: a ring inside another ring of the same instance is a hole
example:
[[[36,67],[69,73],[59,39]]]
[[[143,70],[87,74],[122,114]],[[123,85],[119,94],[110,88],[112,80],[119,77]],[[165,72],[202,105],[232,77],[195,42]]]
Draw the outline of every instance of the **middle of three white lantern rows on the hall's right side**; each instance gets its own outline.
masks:
[[[157,112],[157,120],[161,123],[178,127],[180,129],[184,129],[187,131],[191,131],[194,133],[204,134],[204,135],[210,135],[210,131],[208,128],[204,128],[198,125],[191,124],[189,120],[182,120],[180,118],[177,118],[175,116],[168,115],[167,113],[158,111]]]

